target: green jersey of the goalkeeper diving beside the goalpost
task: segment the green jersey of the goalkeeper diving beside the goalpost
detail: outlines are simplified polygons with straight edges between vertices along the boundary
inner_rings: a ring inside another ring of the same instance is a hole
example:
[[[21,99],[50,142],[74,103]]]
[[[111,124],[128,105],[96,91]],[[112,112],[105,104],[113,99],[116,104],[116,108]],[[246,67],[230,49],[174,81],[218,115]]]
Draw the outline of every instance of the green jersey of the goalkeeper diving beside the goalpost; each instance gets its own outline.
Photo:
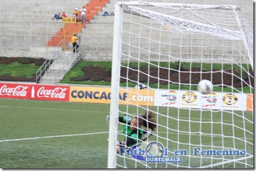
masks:
[[[125,136],[125,142],[127,146],[132,146],[133,144],[141,143],[141,135],[143,134],[143,130],[139,128],[138,130],[131,130],[131,120],[132,118],[129,116],[123,116],[119,117],[119,122],[125,123],[122,128],[123,128],[123,133],[126,135]],[[128,125],[127,125],[127,124]]]

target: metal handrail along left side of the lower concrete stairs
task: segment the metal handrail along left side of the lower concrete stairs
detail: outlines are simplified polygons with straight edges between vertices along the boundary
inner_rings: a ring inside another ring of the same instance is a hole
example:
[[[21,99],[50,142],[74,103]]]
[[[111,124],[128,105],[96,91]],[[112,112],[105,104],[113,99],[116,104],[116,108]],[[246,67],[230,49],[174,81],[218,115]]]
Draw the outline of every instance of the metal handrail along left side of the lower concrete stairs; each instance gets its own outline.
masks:
[[[41,67],[37,70],[37,72],[35,73],[35,83],[39,83],[39,81],[43,77],[43,74],[46,73],[47,69],[49,69],[52,61],[59,56],[59,51],[60,51],[59,47],[62,47],[62,43],[63,43],[63,39],[61,39],[57,47],[49,55],[49,58],[46,59],[43,65],[41,65]]]

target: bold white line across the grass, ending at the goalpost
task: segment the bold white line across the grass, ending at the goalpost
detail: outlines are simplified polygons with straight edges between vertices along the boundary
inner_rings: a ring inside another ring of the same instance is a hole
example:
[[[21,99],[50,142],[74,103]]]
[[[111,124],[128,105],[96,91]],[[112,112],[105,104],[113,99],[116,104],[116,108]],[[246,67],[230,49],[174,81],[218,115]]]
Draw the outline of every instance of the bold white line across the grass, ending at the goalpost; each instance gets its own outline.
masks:
[[[60,137],[68,137],[68,136],[83,136],[83,135],[92,135],[92,134],[107,134],[109,132],[94,132],[94,133],[85,133],[85,134],[69,134],[69,135],[57,135],[57,136],[41,136],[41,137],[33,137],[33,138],[19,138],[13,140],[0,140],[0,142],[11,142],[11,141],[20,141],[20,140],[37,140],[37,139],[45,139],[45,138],[60,138]]]

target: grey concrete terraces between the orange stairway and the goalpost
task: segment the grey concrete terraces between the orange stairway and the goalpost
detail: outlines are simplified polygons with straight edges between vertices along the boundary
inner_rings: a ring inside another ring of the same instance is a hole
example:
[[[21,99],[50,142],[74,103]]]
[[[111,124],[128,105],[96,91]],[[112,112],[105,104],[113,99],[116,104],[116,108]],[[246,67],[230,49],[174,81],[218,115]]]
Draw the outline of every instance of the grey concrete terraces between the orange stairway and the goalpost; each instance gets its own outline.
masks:
[[[81,54],[82,59],[112,59],[114,16],[103,16],[103,13],[114,12],[117,1],[109,1],[82,30],[80,49],[85,52]]]

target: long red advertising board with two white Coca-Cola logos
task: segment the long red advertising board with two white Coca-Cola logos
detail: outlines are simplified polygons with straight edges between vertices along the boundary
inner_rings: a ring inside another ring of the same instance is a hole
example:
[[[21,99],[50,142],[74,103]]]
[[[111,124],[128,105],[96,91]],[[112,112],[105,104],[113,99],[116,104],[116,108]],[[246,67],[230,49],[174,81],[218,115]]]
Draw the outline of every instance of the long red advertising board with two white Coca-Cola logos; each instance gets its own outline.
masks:
[[[0,83],[0,98],[69,101],[69,86]]]

